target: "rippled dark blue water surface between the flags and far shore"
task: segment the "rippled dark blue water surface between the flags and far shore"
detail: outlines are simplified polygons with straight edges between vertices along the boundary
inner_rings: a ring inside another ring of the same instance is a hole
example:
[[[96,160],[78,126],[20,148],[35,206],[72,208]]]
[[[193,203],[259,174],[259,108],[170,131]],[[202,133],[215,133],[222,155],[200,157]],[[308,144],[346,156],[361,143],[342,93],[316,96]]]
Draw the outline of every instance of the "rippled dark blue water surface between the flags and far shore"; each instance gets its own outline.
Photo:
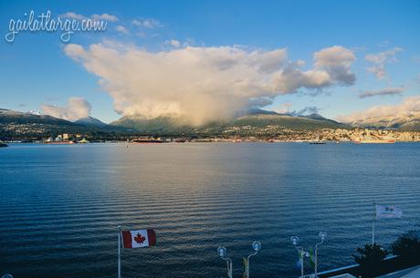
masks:
[[[251,277],[296,277],[297,252],[328,232],[320,269],[371,239],[373,200],[404,211],[377,223],[388,246],[418,229],[420,145],[304,143],[13,145],[0,149],[0,274],[116,277],[117,225],[158,243],[122,252],[123,277],[222,277],[226,246],[259,240]]]

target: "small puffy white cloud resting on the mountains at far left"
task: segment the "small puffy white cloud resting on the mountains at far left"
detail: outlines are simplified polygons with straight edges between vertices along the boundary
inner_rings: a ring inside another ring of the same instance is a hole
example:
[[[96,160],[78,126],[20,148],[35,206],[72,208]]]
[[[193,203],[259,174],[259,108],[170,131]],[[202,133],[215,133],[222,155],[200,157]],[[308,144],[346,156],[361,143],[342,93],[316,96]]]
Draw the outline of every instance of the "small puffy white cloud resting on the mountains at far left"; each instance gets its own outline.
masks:
[[[41,108],[44,114],[70,121],[89,117],[91,110],[91,106],[85,98],[68,98],[68,104],[65,107],[43,104]]]

